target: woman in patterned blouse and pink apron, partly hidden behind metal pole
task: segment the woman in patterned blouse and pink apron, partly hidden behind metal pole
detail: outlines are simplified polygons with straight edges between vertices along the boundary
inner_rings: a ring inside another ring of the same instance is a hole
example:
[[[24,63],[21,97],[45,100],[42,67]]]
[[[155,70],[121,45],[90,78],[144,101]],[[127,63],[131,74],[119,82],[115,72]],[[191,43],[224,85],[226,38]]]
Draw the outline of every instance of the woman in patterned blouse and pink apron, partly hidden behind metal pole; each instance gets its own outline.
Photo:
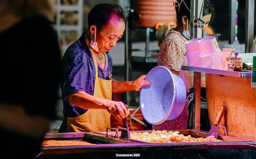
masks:
[[[186,1],[186,5],[190,6],[190,1]],[[186,53],[186,45],[190,39],[190,12],[182,2],[177,0],[174,2],[175,11],[177,15],[177,27],[169,30],[168,34],[161,43],[158,65],[169,68],[172,73],[182,76],[186,74],[185,82],[188,94],[191,94],[191,88],[193,87],[193,77],[191,73],[181,71],[181,66],[184,61]],[[209,23],[213,21],[214,17],[214,6],[209,0],[204,0],[203,5],[203,17],[205,28]],[[190,92],[189,92],[190,91]],[[171,130],[171,129],[187,129],[188,126],[188,108],[184,107],[182,113],[174,120],[165,121],[160,125],[154,125],[155,130]]]

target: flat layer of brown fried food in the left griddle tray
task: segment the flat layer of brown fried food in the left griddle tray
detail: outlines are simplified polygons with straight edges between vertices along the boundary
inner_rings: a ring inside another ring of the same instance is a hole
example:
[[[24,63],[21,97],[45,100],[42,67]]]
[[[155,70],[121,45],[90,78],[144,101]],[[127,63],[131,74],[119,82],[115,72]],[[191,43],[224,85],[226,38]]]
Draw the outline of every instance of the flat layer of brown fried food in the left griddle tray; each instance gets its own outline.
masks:
[[[78,146],[78,145],[95,145],[85,141],[76,140],[47,140],[43,141],[41,146]]]

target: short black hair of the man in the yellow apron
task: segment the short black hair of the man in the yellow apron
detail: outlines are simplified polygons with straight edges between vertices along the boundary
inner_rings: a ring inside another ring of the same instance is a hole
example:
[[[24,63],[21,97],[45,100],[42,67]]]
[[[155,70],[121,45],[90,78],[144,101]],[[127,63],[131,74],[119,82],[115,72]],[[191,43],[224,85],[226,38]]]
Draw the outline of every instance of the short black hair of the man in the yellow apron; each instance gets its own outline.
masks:
[[[126,21],[126,13],[121,6],[107,3],[95,5],[88,14],[88,26],[90,28],[91,25],[95,25],[98,30],[101,30],[113,15],[116,15],[119,20]]]

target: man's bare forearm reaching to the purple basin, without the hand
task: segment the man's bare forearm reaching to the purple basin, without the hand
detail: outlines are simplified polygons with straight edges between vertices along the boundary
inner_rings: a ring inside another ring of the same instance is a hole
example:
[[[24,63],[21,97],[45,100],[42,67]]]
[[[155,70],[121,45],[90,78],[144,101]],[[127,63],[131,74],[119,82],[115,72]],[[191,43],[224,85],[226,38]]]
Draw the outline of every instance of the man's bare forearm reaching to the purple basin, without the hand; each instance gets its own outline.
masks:
[[[128,91],[134,91],[132,81],[117,81],[112,79],[112,93],[123,93]]]

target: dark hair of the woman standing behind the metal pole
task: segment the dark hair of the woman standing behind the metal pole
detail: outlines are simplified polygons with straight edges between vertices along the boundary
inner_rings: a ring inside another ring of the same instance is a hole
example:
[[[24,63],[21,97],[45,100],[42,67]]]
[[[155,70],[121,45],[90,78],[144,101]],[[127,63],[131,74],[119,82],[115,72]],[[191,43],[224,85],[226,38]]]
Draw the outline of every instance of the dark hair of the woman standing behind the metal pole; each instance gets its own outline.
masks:
[[[182,24],[182,17],[183,17],[183,15],[188,17],[188,21],[190,21],[190,12],[188,11],[188,9],[184,5],[184,3],[181,2],[181,1],[182,0],[177,0],[178,3],[181,3],[180,4],[180,11],[179,11],[179,7],[178,6],[175,7],[176,15],[177,15],[177,24],[178,24],[179,27],[183,26],[183,24]],[[185,0],[185,3],[188,6],[188,8],[190,8],[190,0]],[[199,8],[201,8],[201,6]],[[211,21],[210,21],[210,23],[213,21],[214,12],[215,12],[215,10],[214,10],[213,4],[209,0],[204,0],[203,1],[203,16],[205,16],[207,14],[211,14]]]

